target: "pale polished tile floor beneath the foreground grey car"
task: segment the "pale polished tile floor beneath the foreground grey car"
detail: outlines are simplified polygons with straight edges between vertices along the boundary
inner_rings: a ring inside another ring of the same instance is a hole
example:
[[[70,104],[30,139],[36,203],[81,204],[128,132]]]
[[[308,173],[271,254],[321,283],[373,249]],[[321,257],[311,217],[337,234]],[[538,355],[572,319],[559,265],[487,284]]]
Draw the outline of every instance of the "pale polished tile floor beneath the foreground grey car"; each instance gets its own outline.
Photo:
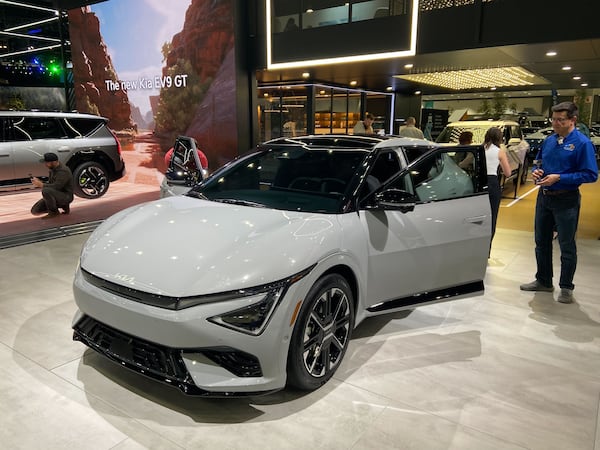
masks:
[[[532,234],[498,230],[485,295],[363,322],[321,389],[199,399],[71,339],[87,234],[0,250],[0,448],[600,450],[600,241],[577,303],[520,292]]]

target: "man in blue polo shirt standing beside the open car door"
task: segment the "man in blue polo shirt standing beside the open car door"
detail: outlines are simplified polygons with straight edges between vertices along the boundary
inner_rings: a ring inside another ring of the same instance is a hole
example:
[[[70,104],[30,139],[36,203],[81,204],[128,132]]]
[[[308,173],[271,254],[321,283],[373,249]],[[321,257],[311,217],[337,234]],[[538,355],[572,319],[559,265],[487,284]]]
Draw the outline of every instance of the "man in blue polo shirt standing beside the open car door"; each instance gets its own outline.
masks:
[[[541,167],[533,171],[540,186],[535,205],[535,258],[537,273],[523,291],[552,292],[552,232],[558,231],[560,246],[560,294],[558,301],[573,303],[573,277],[577,267],[575,232],[579,221],[582,183],[598,179],[598,164],[592,142],[575,128],[579,111],[572,102],[552,107],[552,129],[537,159]]]

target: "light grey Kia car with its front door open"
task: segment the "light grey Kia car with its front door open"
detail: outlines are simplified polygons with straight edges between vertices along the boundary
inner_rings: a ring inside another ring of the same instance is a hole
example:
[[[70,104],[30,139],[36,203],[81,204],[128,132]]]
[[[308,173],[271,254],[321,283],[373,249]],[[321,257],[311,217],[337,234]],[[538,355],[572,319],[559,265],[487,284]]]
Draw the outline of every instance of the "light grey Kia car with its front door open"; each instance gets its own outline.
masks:
[[[405,138],[262,144],[94,231],[73,338],[187,394],[316,389],[365,318],[482,292],[484,161]]]

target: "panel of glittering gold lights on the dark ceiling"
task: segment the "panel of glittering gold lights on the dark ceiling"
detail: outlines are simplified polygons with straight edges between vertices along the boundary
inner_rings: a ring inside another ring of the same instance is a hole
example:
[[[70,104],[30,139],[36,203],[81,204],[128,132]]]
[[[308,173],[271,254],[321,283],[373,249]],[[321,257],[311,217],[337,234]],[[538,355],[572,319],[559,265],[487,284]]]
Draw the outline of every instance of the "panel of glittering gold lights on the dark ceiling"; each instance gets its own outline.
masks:
[[[431,86],[438,86],[455,91],[550,84],[545,78],[534,75],[518,66],[451,70],[446,72],[427,72],[394,76],[415,83],[429,84]]]

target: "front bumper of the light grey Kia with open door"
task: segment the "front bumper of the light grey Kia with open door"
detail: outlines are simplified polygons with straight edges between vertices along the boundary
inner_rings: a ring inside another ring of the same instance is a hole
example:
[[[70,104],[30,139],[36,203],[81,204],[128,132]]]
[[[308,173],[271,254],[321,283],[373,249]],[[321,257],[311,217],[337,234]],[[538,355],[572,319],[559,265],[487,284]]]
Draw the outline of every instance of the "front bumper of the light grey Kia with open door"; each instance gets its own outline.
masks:
[[[292,286],[258,336],[207,319],[247,304],[246,299],[168,310],[142,304],[88,283],[73,283],[79,307],[75,340],[132,370],[190,395],[257,395],[286,383]],[[303,298],[303,297],[299,297]]]

